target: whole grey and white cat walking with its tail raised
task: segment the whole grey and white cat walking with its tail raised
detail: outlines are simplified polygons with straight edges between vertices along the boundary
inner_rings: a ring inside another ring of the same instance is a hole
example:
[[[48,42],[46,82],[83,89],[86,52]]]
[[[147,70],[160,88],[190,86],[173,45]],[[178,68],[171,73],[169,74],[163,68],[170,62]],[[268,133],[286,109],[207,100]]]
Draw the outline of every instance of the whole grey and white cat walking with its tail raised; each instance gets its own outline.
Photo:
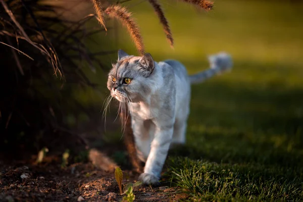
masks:
[[[225,53],[210,56],[209,61],[209,69],[188,75],[178,61],[157,63],[148,53],[137,57],[119,50],[107,87],[120,107],[128,105],[137,154],[145,162],[139,177],[143,183],[158,183],[170,145],[185,143],[190,85],[232,66]]]

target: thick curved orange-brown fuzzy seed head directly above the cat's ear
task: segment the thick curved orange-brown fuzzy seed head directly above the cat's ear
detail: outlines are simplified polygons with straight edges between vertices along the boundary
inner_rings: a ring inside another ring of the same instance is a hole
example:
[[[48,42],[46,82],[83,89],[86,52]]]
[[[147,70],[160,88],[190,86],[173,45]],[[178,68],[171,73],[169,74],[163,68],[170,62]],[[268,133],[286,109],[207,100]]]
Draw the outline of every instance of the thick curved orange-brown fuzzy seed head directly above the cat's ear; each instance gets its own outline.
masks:
[[[130,33],[139,53],[141,55],[144,54],[144,45],[141,33],[137,24],[135,23],[134,19],[131,17],[131,14],[120,5],[110,6],[108,7],[105,12],[111,18],[119,19],[122,24],[127,28],[128,32]]]

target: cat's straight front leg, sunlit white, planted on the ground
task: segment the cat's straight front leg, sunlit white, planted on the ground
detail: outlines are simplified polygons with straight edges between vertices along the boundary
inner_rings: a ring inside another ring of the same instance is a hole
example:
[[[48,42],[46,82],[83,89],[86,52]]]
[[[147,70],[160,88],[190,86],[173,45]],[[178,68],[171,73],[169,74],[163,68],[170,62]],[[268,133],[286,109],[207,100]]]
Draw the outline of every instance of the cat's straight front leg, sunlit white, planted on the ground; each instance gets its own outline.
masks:
[[[173,136],[173,123],[164,121],[156,124],[155,137],[150,145],[150,153],[139,179],[144,184],[158,184]]]

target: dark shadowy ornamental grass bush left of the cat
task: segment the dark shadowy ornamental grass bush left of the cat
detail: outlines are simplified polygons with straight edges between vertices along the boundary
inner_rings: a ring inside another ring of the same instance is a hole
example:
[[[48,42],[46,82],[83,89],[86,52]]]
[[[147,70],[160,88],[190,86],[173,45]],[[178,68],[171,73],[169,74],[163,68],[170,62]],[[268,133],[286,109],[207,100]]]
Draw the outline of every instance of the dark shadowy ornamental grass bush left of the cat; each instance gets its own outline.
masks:
[[[96,56],[110,52],[92,54],[84,43],[102,29],[83,26],[92,15],[72,22],[61,19],[56,6],[21,2],[0,1],[0,151],[22,156],[75,139],[83,145],[66,119],[89,113],[73,92],[95,87],[81,59],[92,70],[104,68]]]

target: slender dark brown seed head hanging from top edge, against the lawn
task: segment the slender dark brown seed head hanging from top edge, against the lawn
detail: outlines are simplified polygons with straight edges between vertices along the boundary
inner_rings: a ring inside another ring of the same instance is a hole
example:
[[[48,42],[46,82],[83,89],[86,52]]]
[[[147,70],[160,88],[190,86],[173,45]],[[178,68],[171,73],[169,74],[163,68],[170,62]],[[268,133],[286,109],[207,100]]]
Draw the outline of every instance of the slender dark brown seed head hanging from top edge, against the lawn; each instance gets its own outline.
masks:
[[[164,12],[161,8],[161,5],[159,4],[158,0],[148,0],[149,4],[151,4],[151,6],[153,6],[159,20],[160,20],[160,23],[162,24],[163,26],[163,29],[164,29],[164,32],[166,34],[166,38],[168,39],[171,47],[174,46],[174,39],[173,39],[173,35],[172,35],[172,32],[169,28],[169,25],[168,25],[168,21],[164,15]]]

